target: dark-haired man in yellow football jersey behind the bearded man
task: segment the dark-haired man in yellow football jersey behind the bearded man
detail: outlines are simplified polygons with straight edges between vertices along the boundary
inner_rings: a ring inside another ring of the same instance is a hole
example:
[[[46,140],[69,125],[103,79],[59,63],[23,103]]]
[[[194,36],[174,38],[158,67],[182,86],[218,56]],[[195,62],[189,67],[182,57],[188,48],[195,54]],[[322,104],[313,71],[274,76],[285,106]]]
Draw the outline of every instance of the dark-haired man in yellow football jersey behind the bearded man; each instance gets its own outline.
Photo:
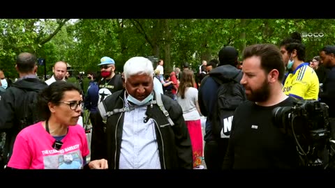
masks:
[[[287,70],[283,79],[283,92],[299,100],[318,100],[319,79],[309,63],[304,63],[305,45],[299,33],[292,33],[280,44]]]

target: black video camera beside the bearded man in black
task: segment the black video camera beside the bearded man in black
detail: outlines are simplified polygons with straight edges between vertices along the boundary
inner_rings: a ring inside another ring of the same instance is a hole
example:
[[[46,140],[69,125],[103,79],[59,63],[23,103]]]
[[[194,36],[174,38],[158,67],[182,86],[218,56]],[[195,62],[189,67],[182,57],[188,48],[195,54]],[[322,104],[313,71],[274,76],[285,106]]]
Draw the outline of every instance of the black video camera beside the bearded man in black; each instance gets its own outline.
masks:
[[[329,107],[318,100],[297,100],[293,107],[276,107],[274,124],[293,136],[302,166],[325,166],[325,152],[331,140]]]

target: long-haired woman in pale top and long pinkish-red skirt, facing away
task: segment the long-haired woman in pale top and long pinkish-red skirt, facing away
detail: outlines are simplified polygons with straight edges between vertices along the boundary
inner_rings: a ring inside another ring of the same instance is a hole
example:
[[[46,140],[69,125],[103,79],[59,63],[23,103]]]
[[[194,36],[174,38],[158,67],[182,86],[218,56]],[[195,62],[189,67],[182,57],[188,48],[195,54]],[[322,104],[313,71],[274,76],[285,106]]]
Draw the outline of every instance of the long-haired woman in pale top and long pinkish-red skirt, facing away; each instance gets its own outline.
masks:
[[[177,102],[183,109],[183,116],[191,137],[193,169],[203,169],[204,166],[201,165],[203,154],[201,113],[198,104],[198,89],[194,85],[193,71],[184,70],[177,91]]]

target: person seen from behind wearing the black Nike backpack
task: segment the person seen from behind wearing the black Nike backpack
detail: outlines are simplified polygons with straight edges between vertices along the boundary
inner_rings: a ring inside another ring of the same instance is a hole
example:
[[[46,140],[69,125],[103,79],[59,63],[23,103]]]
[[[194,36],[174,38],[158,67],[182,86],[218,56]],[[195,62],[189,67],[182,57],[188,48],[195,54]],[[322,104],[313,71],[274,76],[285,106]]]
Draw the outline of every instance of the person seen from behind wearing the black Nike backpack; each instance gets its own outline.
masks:
[[[216,81],[215,77],[220,80],[234,80],[234,91],[244,91],[239,81],[243,73],[238,70],[234,65],[238,62],[239,52],[231,46],[223,47],[218,52],[218,67],[209,72],[209,76],[204,77],[200,84],[198,98],[200,111],[204,116],[207,116],[204,135],[204,161],[206,162],[207,169],[221,169],[225,151],[228,147],[228,139],[231,129],[232,113],[234,109],[226,110],[227,117],[224,119],[225,125],[223,128],[218,117],[218,89],[221,84]],[[236,90],[235,90],[235,87]],[[220,91],[222,91],[222,86]],[[223,88],[227,91],[227,88]],[[234,99],[234,102],[241,102],[245,100],[245,93],[239,93],[241,97],[228,95],[228,99]],[[234,97],[234,98],[233,98]]]

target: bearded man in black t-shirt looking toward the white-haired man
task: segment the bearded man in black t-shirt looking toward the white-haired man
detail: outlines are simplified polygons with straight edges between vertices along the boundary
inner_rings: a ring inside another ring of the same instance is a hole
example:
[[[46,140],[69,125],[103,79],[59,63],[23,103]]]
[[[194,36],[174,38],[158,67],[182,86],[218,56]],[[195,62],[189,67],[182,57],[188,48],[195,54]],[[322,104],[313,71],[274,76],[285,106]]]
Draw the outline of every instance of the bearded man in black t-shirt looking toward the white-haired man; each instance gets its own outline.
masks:
[[[243,52],[247,101],[234,112],[223,169],[296,169],[296,143],[274,125],[276,107],[292,107],[295,99],[283,93],[285,68],[278,47],[258,44]]]

